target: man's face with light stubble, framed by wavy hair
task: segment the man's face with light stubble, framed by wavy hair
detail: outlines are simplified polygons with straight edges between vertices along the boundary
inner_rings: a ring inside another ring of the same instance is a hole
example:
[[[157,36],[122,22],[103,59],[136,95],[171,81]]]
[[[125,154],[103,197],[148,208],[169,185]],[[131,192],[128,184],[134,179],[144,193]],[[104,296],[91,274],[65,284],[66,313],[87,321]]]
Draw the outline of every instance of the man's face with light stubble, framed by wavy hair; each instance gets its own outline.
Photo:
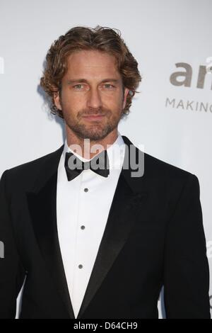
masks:
[[[78,137],[102,140],[122,116],[129,89],[124,89],[115,58],[97,50],[73,52],[54,103],[69,130]]]

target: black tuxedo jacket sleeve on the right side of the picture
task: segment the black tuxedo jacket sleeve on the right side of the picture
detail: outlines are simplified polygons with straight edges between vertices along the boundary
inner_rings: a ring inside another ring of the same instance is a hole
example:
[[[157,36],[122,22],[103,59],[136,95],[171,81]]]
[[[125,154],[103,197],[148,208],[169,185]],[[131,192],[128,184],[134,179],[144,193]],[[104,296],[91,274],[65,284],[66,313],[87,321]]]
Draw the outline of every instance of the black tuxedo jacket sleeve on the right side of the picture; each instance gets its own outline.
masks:
[[[167,225],[164,301],[168,319],[211,318],[209,269],[199,195],[199,180],[189,174]]]

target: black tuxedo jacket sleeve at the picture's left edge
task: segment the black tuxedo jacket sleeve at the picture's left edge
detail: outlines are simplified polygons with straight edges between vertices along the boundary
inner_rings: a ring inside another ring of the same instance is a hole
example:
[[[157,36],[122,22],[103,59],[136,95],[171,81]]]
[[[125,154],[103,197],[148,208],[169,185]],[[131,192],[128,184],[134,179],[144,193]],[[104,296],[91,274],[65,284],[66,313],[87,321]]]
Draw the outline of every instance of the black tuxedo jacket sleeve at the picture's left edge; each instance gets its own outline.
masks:
[[[16,317],[16,298],[23,285],[25,270],[20,262],[13,238],[13,227],[10,215],[4,171],[0,180],[0,318]]]

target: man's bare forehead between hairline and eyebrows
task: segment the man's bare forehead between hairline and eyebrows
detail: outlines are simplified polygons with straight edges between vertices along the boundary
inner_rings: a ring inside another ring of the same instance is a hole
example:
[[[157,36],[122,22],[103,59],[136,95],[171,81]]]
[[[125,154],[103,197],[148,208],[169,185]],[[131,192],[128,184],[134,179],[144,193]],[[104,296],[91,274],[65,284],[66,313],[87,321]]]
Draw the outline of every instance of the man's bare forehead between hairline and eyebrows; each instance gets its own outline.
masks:
[[[67,59],[69,74],[113,74],[119,77],[114,55],[98,50],[81,50],[73,52]]]

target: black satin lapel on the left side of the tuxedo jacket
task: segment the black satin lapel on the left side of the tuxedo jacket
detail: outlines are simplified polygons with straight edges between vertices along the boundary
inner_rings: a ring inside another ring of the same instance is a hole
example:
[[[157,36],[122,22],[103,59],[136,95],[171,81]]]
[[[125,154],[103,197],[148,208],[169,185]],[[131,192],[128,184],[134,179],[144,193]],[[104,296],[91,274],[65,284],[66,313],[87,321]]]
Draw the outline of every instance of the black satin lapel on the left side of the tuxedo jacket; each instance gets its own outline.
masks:
[[[27,193],[28,208],[40,252],[49,276],[56,283],[67,317],[74,318],[57,234],[57,167],[63,146],[45,163],[33,191]]]

